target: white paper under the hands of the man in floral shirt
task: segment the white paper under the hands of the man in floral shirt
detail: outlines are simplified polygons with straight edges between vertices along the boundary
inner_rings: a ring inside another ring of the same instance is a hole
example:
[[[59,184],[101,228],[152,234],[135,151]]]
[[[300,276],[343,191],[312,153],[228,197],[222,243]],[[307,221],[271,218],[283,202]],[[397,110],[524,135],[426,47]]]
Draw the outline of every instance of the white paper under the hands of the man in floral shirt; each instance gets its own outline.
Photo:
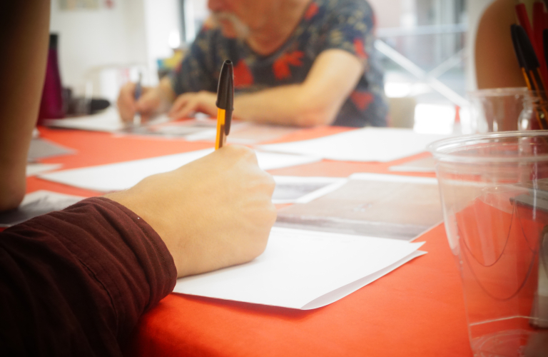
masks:
[[[148,124],[158,124],[168,121],[166,115],[156,116],[153,121],[149,121]],[[118,109],[110,107],[105,111],[98,114],[92,114],[87,116],[78,116],[75,118],[65,119],[47,119],[44,121],[46,126],[55,126],[57,128],[66,129],[79,129],[88,131],[119,131],[126,127],[120,119]]]

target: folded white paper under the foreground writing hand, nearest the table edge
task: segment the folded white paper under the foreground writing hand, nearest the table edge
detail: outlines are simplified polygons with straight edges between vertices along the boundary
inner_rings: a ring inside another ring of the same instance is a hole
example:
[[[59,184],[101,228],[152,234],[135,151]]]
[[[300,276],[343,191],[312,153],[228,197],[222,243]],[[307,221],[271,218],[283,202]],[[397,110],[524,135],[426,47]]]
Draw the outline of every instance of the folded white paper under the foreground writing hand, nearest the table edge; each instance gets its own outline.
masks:
[[[176,293],[309,310],[328,305],[416,256],[422,243],[272,228],[265,252],[239,266],[180,278]]]

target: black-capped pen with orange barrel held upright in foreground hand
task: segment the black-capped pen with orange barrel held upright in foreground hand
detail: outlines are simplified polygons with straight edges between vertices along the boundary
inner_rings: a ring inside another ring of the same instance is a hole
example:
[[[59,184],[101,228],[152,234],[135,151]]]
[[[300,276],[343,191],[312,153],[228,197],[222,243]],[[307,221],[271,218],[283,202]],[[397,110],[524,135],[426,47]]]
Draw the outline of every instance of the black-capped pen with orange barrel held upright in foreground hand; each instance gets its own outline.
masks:
[[[217,86],[217,136],[215,150],[225,144],[226,136],[230,132],[232,111],[234,110],[234,79],[232,61],[227,59],[220,69],[219,84]]]

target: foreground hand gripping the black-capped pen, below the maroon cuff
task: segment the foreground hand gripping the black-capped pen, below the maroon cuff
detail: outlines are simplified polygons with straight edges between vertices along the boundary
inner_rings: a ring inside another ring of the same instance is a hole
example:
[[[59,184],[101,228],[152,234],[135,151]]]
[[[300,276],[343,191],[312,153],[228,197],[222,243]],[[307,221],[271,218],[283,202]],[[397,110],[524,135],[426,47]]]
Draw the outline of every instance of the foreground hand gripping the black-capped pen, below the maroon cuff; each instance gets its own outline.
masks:
[[[263,253],[276,218],[274,186],[252,150],[225,146],[106,197],[154,228],[181,277],[245,263]]]

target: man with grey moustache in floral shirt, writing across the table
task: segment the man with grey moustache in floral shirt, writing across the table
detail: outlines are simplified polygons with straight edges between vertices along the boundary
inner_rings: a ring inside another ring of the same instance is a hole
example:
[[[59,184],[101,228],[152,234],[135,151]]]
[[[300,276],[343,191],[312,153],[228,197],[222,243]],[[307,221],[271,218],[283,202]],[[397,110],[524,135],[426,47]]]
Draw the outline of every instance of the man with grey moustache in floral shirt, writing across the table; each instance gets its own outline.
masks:
[[[365,0],[209,0],[211,18],[156,88],[121,90],[126,121],[168,108],[173,119],[215,116],[225,59],[234,64],[234,117],[293,126],[385,126],[375,16]]]

